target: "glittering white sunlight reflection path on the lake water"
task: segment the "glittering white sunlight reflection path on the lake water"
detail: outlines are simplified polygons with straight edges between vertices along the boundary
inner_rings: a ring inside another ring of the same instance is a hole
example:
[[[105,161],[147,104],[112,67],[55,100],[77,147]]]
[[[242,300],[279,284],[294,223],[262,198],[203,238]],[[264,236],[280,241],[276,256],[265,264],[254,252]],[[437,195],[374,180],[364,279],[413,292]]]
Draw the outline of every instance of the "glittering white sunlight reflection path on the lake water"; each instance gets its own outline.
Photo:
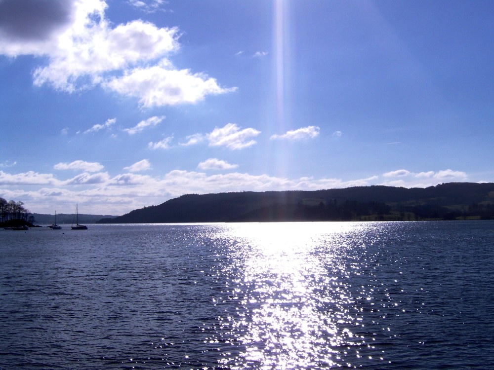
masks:
[[[342,346],[362,341],[354,333],[358,308],[342,279],[353,273],[349,251],[335,242],[349,227],[239,224],[219,236],[233,241],[232,264],[225,271],[231,282],[224,293],[238,301],[236,315],[221,317],[220,325],[244,348],[224,364],[232,369],[332,367],[342,362]]]

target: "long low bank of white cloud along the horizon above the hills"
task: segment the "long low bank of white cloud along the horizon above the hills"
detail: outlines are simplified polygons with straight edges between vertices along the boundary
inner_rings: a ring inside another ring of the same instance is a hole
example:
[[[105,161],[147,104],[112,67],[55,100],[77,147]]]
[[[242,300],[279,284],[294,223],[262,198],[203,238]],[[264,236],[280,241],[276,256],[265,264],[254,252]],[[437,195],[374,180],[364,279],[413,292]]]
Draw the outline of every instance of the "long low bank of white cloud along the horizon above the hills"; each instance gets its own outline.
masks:
[[[212,159],[210,163],[216,161]],[[78,202],[80,205],[84,204],[84,213],[121,215],[133,209],[161,204],[170,198],[187,193],[317,190],[367,185],[426,187],[442,183],[445,176],[456,176],[449,178],[448,181],[466,180],[462,177],[466,176],[465,173],[461,171],[436,171],[434,175],[437,178],[432,176],[427,179],[417,178],[418,174],[410,172],[408,177],[387,177],[385,182],[380,183],[379,180],[382,178],[379,176],[354,180],[313,177],[290,179],[239,172],[208,176],[204,171],[173,170],[157,177],[135,173],[111,177],[106,172],[91,174],[85,171],[74,178],[61,181],[52,174],[33,171],[8,174],[0,171],[0,196],[21,200],[31,211],[37,213],[52,213],[53,204],[57,204],[57,211],[60,213],[72,213],[74,203]],[[5,186],[2,188],[2,185]]]

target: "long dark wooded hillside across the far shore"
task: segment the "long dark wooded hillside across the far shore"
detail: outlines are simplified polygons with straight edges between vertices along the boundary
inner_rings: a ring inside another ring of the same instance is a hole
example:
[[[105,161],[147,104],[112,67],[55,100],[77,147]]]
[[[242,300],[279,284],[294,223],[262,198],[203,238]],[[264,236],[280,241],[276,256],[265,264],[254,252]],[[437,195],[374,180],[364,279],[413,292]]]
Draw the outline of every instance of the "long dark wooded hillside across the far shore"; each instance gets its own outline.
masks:
[[[494,183],[187,194],[100,223],[494,219]]]

